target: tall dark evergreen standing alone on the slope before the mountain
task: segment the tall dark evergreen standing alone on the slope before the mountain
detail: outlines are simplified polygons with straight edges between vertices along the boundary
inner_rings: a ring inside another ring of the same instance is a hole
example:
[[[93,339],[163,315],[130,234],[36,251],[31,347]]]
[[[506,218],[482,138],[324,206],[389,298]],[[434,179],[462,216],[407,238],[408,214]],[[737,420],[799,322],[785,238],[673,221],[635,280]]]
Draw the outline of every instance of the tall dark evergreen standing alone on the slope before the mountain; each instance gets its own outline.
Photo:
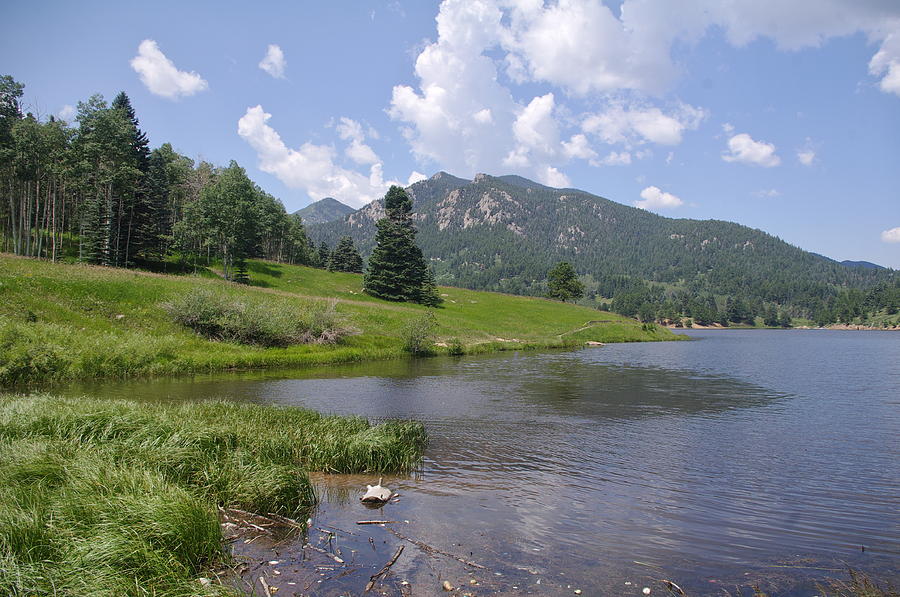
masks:
[[[421,302],[428,268],[416,244],[412,199],[402,188],[392,186],[384,196],[384,210],[386,217],[377,224],[364,290],[390,301]]]

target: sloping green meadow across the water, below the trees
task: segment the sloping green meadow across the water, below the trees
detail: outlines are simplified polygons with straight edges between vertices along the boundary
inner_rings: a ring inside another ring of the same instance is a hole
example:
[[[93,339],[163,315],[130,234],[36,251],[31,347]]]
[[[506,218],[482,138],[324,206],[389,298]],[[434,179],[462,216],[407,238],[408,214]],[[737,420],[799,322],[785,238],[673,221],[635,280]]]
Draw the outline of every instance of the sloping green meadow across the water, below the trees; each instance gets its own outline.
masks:
[[[0,386],[227,369],[298,367],[405,355],[404,326],[426,309],[362,294],[362,276],[251,263],[256,286],[0,255]],[[334,344],[284,348],[209,340],[166,305],[197,290],[298,316],[334,303],[355,331]],[[536,298],[441,288],[436,350],[475,353],[672,339],[668,330]],[[445,344],[446,347],[440,346]]]

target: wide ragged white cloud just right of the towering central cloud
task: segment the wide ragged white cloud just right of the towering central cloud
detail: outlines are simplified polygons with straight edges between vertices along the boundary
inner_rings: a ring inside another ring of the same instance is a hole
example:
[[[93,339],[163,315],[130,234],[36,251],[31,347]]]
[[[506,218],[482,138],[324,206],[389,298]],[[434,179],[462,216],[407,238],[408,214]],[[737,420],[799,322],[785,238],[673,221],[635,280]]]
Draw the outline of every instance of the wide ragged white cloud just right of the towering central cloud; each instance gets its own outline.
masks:
[[[598,136],[610,145],[639,143],[678,145],[685,130],[696,129],[706,112],[687,104],[680,104],[670,114],[659,108],[610,105],[605,111],[590,114],[581,124],[582,130]]]

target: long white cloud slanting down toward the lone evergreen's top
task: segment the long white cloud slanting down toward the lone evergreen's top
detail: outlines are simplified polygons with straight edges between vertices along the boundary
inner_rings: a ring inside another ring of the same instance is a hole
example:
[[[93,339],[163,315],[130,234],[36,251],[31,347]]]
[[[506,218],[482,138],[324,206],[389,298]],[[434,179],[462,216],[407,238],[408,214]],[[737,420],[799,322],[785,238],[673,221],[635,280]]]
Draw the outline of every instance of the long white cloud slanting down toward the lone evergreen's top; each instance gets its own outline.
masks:
[[[262,106],[247,108],[238,121],[238,134],[256,150],[259,168],[275,175],[293,189],[304,189],[313,199],[334,197],[353,207],[378,199],[395,181],[385,181],[381,163],[372,164],[369,175],[335,163],[334,149],[304,143],[291,149],[267,121],[272,117]]]

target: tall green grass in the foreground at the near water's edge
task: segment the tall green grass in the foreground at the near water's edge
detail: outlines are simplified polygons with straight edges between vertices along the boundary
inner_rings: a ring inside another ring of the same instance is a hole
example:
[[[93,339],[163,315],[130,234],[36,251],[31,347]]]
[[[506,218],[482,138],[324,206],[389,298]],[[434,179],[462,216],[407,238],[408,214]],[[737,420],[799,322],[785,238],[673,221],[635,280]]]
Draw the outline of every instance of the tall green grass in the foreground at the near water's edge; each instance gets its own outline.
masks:
[[[296,408],[0,396],[0,594],[203,595],[216,507],[305,517],[305,470],[402,471],[416,423]]]

